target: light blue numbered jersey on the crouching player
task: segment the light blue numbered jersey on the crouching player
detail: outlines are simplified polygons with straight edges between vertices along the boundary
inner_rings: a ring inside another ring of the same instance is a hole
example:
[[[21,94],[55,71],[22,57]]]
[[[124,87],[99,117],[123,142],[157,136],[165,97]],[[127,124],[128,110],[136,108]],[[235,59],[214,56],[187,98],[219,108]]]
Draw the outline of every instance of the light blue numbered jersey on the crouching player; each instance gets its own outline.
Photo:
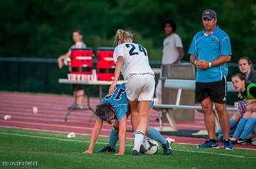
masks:
[[[110,103],[115,110],[115,117],[118,122],[122,120],[124,115],[128,115],[128,98],[125,92],[125,85],[122,83],[114,89],[113,94],[107,94],[103,98],[102,103]]]

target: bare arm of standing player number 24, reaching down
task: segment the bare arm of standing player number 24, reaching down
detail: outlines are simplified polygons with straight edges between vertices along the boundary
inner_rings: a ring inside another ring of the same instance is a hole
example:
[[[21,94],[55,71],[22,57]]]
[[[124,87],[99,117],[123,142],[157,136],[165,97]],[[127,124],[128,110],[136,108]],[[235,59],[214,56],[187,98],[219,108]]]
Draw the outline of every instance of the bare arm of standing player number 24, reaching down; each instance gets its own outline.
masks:
[[[110,90],[109,90],[110,94],[114,93],[114,88],[115,88],[115,86],[117,86],[117,81],[119,79],[120,72],[121,72],[123,64],[124,64],[124,57],[119,56],[117,58],[116,66],[115,66],[115,69],[114,69],[114,80],[113,80],[113,83],[110,86]]]

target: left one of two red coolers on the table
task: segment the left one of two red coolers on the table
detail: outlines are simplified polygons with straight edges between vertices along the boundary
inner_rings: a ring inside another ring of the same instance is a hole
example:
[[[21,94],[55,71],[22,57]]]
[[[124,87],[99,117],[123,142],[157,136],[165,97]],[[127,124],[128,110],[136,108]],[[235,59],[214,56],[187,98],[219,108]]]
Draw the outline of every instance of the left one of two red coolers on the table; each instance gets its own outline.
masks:
[[[70,74],[92,74],[92,48],[71,49]]]

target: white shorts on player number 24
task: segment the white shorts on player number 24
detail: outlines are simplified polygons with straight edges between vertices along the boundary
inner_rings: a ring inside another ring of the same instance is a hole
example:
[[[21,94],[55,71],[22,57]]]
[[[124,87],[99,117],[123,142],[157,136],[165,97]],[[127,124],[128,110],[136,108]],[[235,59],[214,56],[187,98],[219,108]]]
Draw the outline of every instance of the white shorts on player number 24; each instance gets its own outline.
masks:
[[[124,84],[129,100],[153,100],[156,84],[153,74],[130,74],[124,79]]]

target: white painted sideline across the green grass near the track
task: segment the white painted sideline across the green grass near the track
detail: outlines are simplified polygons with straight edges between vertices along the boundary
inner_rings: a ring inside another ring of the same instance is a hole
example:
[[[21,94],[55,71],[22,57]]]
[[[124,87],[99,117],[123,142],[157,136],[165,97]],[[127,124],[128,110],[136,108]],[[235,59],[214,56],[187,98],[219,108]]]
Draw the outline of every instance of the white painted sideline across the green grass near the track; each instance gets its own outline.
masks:
[[[73,140],[73,139],[61,139],[61,138],[55,138],[55,137],[49,137],[49,136],[34,136],[34,135],[27,135],[27,134],[14,134],[14,133],[6,133],[6,132],[0,132],[0,134],[6,134],[11,136],[27,136],[31,138],[37,138],[37,139],[51,139],[51,140],[58,140],[58,141],[73,141],[73,142],[79,142],[79,143],[90,143],[90,141],[80,141],[80,140]],[[97,141],[96,144],[103,144],[105,145],[105,142]],[[126,144],[126,146],[132,147],[132,144]],[[252,158],[256,159],[256,157],[249,157],[249,156],[239,156],[239,155],[233,155],[228,153],[212,153],[212,152],[203,152],[203,151],[188,151],[188,150],[181,150],[181,149],[173,149],[174,151],[181,151],[181,152],[187,152],[187,153],[206,153],[206,154],[212,154],[217,156],[230,156],[235,158]]]

